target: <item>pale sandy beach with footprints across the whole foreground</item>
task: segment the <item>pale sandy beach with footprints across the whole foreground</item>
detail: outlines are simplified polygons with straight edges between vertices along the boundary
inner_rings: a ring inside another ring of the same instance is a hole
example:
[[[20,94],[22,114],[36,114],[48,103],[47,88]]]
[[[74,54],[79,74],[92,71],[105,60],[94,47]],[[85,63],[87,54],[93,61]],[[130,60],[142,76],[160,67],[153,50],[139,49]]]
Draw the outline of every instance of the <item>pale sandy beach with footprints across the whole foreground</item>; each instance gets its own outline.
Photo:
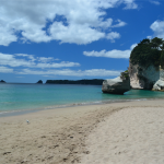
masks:
[[[163,164],[164,101],[1,117],[0,163]]]

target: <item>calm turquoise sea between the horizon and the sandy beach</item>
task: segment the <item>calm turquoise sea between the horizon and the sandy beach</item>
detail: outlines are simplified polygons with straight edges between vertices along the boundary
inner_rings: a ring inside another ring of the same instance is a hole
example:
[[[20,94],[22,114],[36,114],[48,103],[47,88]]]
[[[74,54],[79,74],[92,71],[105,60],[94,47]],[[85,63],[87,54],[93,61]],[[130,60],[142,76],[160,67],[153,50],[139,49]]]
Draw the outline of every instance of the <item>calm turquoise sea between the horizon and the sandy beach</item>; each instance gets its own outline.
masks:
[[[103,94],[99,85],[0,84],[0,114],[145,98],[164,98],[164,92],[131,90],[113,95]]]

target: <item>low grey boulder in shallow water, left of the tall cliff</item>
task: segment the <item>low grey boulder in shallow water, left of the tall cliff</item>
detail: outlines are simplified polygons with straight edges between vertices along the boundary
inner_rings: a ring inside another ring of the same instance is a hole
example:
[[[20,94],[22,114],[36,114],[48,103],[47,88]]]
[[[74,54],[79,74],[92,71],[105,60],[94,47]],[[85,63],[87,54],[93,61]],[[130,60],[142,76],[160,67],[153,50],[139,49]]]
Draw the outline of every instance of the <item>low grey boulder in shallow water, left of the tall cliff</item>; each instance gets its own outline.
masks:
[[[124,94],[130,90],[130,79],[121,77],[115,79],[107,79],[103,82],[103,93]]]

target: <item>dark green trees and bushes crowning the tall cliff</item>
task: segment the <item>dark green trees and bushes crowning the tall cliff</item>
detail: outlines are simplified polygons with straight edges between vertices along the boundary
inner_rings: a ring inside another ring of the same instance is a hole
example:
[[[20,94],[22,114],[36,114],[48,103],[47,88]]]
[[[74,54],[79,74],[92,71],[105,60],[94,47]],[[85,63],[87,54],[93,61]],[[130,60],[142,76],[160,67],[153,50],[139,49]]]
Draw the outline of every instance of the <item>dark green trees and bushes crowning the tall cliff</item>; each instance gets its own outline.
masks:
[[[164,67],[164,40],[162,38],[143,39],[133,48],[130,55],[132,65]]]

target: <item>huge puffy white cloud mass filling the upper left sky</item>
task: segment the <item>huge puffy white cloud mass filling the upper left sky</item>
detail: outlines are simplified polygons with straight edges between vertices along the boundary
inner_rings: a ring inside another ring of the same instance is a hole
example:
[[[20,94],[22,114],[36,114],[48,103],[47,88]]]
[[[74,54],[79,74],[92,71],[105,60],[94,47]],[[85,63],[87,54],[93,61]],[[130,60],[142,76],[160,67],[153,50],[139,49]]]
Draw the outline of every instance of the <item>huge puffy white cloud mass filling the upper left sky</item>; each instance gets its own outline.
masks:
[[[102,30],[125,25],[105,19],[105,10],[119,4],[138,8],[134,0],[1,0],[0,45],[19,39],[81,45],[106,38],[107,32]]]

